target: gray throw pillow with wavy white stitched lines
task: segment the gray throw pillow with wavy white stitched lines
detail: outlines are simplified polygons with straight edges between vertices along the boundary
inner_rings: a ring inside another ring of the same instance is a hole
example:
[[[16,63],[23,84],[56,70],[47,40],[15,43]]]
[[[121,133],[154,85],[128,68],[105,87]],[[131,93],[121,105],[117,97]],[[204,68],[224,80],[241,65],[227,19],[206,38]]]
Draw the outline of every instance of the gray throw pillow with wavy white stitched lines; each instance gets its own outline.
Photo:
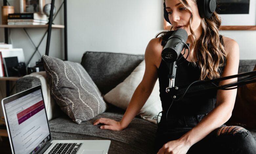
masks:
[[[74,122],[88,121],[106,110],[106,103],[86,70],[79,64],[43,56],[53,98]]]

